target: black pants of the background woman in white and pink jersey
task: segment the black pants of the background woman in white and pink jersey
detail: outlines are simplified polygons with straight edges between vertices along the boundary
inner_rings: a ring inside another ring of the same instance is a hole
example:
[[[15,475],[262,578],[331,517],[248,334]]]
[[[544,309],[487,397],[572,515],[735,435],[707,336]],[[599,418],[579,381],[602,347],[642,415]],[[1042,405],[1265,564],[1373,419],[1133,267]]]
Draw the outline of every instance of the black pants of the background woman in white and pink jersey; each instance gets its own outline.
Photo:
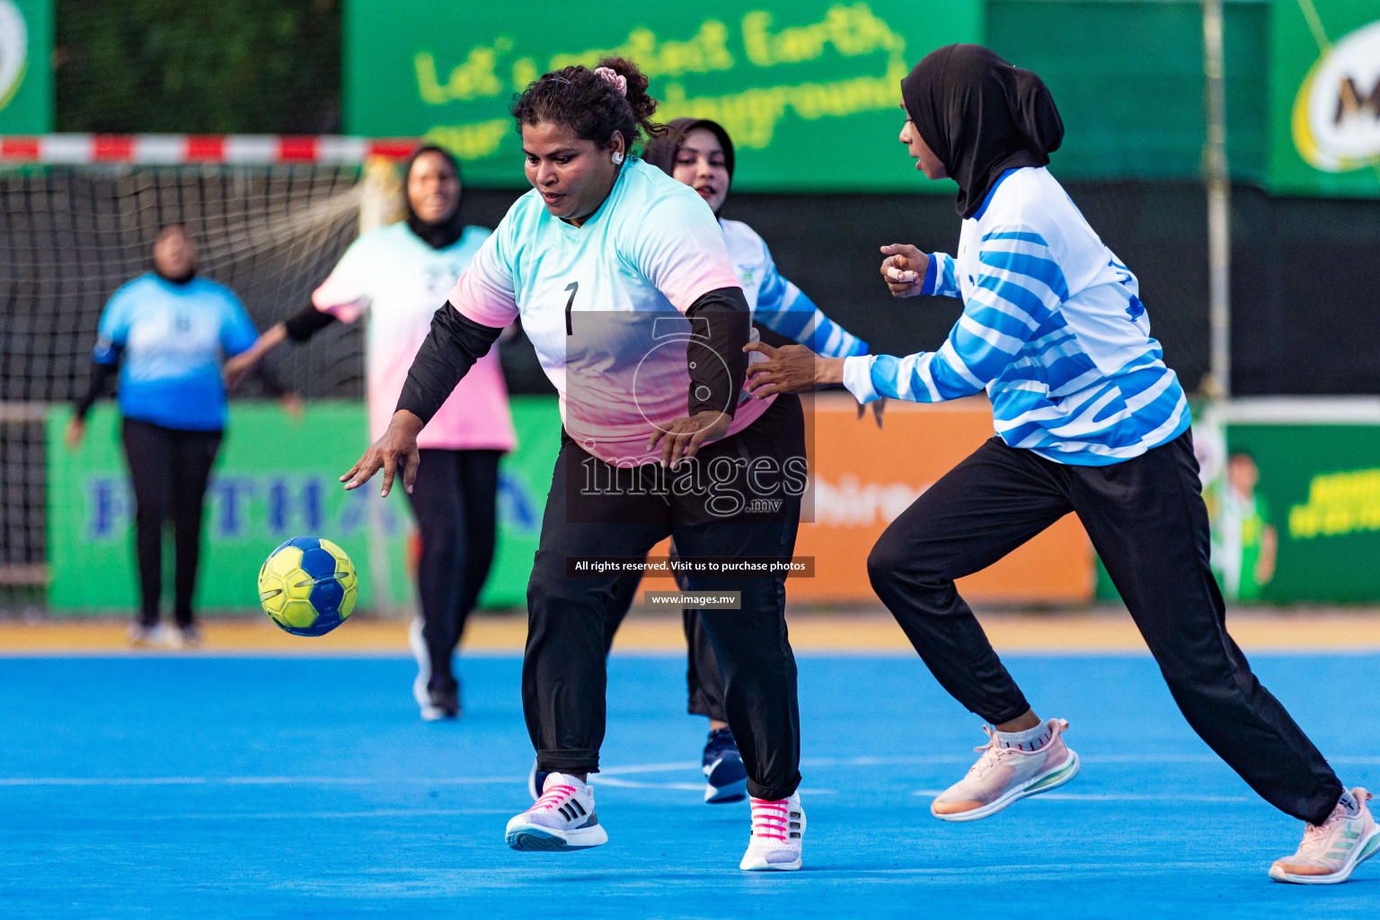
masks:
[[[431,687],[455,686],[451,657],[489,578],[497,539],[498,459],[502,451],[425,448],[408,499],[422,553],[417,593]]]

